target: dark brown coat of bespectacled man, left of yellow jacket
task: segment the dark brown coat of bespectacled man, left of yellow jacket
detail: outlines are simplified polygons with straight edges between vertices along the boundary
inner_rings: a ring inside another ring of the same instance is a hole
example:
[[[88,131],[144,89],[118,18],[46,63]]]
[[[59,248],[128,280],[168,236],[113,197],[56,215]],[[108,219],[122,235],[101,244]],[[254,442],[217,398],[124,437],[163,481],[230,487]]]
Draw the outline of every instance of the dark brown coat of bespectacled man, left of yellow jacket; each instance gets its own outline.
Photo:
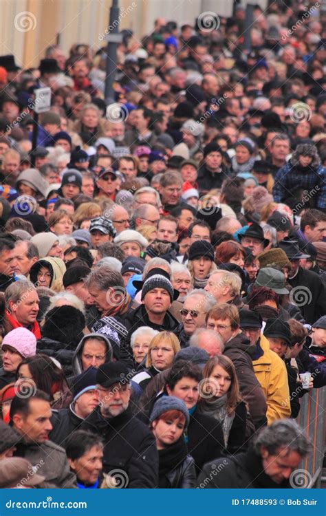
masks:
[[[248,403],[250,415],[256,428],[266,424],[266,398],[254,374],[252,356],[256,346],[242,333],[231,338],[225,345],[224,355],[235,365],[241,396]]]

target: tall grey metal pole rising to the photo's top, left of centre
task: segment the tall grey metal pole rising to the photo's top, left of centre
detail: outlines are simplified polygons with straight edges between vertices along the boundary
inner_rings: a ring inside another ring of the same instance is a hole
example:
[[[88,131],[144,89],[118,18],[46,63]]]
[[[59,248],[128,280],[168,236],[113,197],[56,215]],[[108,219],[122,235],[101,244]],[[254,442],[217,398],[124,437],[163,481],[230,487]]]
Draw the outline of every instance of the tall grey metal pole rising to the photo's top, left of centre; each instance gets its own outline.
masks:
[[[117,65],[117,46],[119,34],[119,0],[112,0],[109,19],[109,35],[107,37],[107,65],[105,76],[105,103],[107,105],[114,102],[113,81],[116,74]]]

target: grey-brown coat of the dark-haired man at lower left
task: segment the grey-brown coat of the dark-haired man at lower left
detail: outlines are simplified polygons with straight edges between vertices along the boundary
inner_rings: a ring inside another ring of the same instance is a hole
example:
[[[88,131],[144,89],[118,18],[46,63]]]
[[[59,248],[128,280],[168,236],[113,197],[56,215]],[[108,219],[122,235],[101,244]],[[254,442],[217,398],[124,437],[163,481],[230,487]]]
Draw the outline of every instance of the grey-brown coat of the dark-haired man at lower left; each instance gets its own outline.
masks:
[[[70,471],[65,450],[52,441],[21,443],[14,452],[27,459],[39,475],[45,477],[45,488],[76,488],[76,476]]]

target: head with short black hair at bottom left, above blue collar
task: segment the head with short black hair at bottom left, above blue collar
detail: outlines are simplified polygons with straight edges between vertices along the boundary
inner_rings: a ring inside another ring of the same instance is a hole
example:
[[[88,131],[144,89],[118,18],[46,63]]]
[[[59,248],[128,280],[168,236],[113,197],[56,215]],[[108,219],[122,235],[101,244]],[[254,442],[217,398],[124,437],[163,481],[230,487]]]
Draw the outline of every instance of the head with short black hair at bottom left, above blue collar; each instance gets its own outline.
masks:
[[[94,485],[102,471],[103,442],[100,436],[77,429],[67,439],[65,451],[78,484]]]

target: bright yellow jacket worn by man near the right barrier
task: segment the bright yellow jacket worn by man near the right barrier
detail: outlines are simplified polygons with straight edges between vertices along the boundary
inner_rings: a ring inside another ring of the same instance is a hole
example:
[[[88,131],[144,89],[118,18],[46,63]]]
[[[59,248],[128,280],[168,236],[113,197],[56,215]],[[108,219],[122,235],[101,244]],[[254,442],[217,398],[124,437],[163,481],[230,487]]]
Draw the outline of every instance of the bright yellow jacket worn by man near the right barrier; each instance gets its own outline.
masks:
[[[277,419],[290,418],[289,383],[285,363],[270,350],[270,344],[264,335],[261,335],[260,344],[263,355],[252,361],[252,365],[266,396],[266,417],[268,424],[271,424]]]

